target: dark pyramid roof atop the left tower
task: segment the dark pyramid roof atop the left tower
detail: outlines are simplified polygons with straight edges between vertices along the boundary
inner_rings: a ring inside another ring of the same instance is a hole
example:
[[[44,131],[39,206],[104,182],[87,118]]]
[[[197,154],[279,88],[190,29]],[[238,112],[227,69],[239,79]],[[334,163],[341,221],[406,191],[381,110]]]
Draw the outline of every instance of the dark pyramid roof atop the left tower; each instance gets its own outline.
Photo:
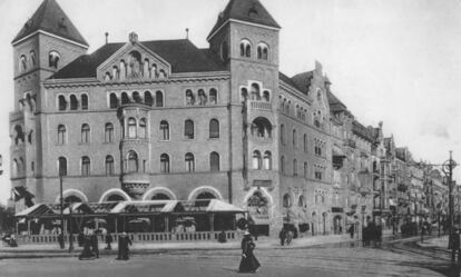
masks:
[[[72,24],[56,0],[45,0],[11,43],[38,30],[47,31],[88,47],[88,42]]]

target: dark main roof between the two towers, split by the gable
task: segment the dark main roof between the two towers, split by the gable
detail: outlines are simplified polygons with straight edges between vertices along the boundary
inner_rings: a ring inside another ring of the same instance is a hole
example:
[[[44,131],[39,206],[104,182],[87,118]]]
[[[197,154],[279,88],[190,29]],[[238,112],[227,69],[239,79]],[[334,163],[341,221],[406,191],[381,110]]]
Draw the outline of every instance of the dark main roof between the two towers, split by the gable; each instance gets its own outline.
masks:
[[[165,59],[175,73],[225,71],[226,67],[209,49],[198,49],[189,40],[140,41]],[[107,43],[91,55],[82,55],[63,67],[51,79],[95,78],[97,68],[125,43]]]

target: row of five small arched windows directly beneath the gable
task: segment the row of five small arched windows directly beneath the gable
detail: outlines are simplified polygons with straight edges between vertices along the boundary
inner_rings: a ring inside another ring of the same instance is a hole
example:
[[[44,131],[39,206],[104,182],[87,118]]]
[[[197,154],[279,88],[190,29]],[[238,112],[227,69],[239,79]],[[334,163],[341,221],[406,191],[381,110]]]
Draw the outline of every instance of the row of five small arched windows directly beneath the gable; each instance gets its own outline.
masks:
[[[126,103],[143,103],[148,107],[161,108],[165,106],[164,92],[157,90],[155,92],[155,97],[148,90],[144,91],[144,93],[139,93],[138,91],[122,91],[120,96],[118,96],[115,92],[108,95],[108,106],[110,109],[117,109],[118,107],[120,107],[120,105]]]

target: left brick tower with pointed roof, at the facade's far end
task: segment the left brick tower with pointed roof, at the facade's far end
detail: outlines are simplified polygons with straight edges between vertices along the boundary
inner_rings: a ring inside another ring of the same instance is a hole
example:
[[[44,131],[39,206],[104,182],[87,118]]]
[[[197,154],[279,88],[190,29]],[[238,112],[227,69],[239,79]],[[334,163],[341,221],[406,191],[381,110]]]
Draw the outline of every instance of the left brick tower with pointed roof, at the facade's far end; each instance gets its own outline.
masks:
[[[11,172],[13,187],[24,187],[40,201],[43,190],[41,152],[48,147],[42,136],[41,82],[85,53],[88,43],[56,0],[43,0],[11,42],[14,67],[14,111],[10,113]]]

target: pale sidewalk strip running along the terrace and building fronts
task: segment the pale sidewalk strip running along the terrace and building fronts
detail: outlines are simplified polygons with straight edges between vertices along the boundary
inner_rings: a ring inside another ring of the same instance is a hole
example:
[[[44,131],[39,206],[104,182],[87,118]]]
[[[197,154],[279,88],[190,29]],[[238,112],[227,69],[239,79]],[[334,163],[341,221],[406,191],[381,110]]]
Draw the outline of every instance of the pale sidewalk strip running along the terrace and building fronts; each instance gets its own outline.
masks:
[[[315,236],[294,239],[291,246],[282,247],[279,240],[275,238],[259,237],[256,240],[258,249],[282,249],[282,248],[304,248],[311,246],[337,244],[346,241],[357,241],[356,238],[351,239],[349,235],[330,235]],[[69,245],[66,245],[69,247]],[[99,244],[100,255],[117,255],[117,244],[112,244],[111,250],[105,250],[105,244]],[[130,247],[131,254],[157,254],[171,250],[229,250],[239,249],[241,241],[229,241],[219,244],[217,241],[194,241],[194,243],[165,243],[165,244],[134,244]],[[19,245],[17,248],[0,246],[0,259],[19,259],[19,258],[53,258],[53,257],[77,257],[81,251],[81,247],[75,245],[75,250],[68,253],[56,245]]]

